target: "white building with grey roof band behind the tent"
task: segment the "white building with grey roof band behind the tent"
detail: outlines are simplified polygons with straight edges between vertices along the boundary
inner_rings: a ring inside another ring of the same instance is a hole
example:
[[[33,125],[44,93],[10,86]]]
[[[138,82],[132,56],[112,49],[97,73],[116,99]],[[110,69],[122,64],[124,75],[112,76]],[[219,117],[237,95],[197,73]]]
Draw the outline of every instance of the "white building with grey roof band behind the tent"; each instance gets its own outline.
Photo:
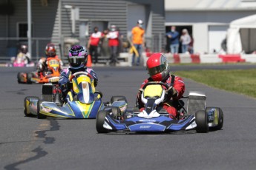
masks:
[[[165,0],[165,26],[187,28],[194,52],[221,50],[230,22],[256,13],[256,0]]]

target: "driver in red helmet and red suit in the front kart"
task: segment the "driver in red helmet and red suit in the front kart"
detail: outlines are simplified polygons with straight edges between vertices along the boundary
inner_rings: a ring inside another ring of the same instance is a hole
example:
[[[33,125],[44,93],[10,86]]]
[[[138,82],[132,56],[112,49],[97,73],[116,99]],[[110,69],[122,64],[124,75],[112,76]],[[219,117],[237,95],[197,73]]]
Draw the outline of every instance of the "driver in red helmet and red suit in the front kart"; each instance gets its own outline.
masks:
[[[140,86],[140,90],[137,95],[137,106],[139,106],[140,112],[145,109],[144,103],[141,101],[142,87],[149,81],[161,81],[170,87],[165,89],[165,92],[168,92],[168,95],[165,96],[165,98],[168,98],[168,101],[157,106],[157,111],[165,109],[170,115],[170,118],[178,118],[178,100],[185,92],[183,79],[178,76],[171,75],[171,68],[168,66],[168,61],[163,53],[154,53],[151,55],[147,61],[147,69],[150,78],[145,79]]]

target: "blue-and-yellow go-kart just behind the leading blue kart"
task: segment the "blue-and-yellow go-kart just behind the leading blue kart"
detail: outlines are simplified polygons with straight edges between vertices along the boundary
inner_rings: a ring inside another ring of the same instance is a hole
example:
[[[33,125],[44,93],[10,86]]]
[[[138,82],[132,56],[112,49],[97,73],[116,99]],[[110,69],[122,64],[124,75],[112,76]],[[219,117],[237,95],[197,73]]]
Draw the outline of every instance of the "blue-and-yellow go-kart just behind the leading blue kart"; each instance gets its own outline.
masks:
[[[39,119],[57,118],[96,118],[103,109],[102,93],[95,90],[93,77],[87,72],[76,72],[71,76],[68,92],[69,101],[60,100],[57,84],[42,85],[42,100],[38,97],[24,98],[24,115],[36,115]]]

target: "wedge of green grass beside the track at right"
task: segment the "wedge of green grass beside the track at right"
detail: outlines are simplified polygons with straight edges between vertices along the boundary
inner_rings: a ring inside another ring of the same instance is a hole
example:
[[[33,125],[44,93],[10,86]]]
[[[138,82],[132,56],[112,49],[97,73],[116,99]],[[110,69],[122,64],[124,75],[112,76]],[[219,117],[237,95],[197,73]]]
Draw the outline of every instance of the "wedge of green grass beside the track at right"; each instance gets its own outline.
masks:
[[[256,69],[193,70],[176,72],[183,78],[256,98]]]

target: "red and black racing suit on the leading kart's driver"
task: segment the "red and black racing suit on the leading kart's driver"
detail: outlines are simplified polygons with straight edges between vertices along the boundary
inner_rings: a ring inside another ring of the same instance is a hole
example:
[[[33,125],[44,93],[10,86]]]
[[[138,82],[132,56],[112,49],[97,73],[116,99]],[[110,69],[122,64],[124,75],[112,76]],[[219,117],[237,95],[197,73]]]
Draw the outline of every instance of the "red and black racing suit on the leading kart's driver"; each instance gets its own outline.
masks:
[[[148,83],[149,81],[153,81],[151,78],[146,79],[142,85],[140,86],[140,91],[137,95],[137,105],[139,106],[140,112],[144,110],[145,104],[141,101],[141,89],[143,86]],[[173,92],[171,92],[171,95],[166,95],[166,98],[169,98],[169,100],[165,103],[160,103],[159,106],[157,106],[157,111],[160,111],[160,109],[165,109],[166,112],[170,115],[170,118],[177,118],[178,115],[178,107],[179,107],[179,99],[182,98],[183,93],[185,92],[185,84],[182,78],[175,76],[175,75],[168,75],[167,78],[165,78],[162,81],[164,84],[167,84],[168,86],[172,86],[174,89],[171,89]],[[163,87],[165,88],[165,87]]]

